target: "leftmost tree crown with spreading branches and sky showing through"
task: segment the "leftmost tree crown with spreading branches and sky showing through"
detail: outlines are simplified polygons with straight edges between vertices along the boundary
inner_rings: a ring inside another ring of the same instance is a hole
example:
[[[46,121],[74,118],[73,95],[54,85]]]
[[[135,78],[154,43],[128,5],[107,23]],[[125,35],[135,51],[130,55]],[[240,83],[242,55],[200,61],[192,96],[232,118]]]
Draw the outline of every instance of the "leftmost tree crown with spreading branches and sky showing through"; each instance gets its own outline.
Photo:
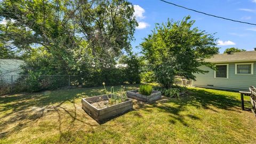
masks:
[[[0,14],[7,21],[1,28],[3,46],[24,54],[28,59],[31,55],[41,57],[38,49],[42,47],[52,55],[50,63],[52,73],[67,74],[71,71],[69,63],[75,63],[73,51],[79,46],[76,37],[76,26],[68,16],[73,12],[68,1],[12,1],[1,2]],[[38,54],[35,54],[37,52]],[[30,60],[28,60],[30,61]],[[34,64],[36,62],[34,61]],[[31,70],[41,69],[41,65],[30,67]],[[35,69],[36,68],[36,69]],[[38,69],[37,69],[38,68]]]

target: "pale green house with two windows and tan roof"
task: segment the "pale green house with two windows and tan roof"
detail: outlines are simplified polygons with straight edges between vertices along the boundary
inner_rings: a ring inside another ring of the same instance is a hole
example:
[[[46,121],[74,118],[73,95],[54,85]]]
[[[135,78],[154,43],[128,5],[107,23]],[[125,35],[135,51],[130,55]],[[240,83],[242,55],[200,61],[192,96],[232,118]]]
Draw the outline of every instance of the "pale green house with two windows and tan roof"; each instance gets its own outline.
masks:
[[[209,73],[195,74],[193,86],[239,91],[256,85],[256,50],[216,54],[206,61],[214,63],[217,71],[206,66],[199,67]]]

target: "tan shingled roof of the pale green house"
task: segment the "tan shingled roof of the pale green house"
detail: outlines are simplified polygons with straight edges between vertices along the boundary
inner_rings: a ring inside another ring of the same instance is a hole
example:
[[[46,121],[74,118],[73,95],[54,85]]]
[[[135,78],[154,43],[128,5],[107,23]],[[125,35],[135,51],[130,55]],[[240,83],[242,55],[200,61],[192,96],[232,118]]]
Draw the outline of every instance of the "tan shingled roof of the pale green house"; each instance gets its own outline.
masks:
[[[256,61],[256,51],[215,54],[212,58],[206,59],[206,61],[212,63]]]

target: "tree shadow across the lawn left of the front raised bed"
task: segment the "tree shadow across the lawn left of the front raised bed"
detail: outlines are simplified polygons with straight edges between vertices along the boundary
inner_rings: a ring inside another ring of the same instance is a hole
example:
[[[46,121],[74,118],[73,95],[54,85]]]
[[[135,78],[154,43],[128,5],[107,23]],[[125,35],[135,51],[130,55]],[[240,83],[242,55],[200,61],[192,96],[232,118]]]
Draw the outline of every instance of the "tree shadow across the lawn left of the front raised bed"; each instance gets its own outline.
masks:
[[[130,90],[134,89],[134,86],[137,85],[127,85],[126,87],[128,87],[127,90]],[[110,89],[110,86],[107,86],[107,89]],[[70,129],[75,121],[93,126],[91,123],[86,123],[85,120],[88,117],[83,119],[77,118],[77,107],[81,107],[81,98],[101,95],[103,93],[103,87],[92,87],[2,95],[0,96],[0,133],[2,130],[5,130],[7,125],[13,125],[13,128],[8,133],[20,131],[36,123],[48,110],[58,114],[60,133],[62,133],[61,117],[63,115],[63,113],[60,113],[60,110],[64,111],[71,118]],[[78,101],[77,103],[76,100]],[[70,107],[68,109],[63,107],[63,103],[68,103]]]

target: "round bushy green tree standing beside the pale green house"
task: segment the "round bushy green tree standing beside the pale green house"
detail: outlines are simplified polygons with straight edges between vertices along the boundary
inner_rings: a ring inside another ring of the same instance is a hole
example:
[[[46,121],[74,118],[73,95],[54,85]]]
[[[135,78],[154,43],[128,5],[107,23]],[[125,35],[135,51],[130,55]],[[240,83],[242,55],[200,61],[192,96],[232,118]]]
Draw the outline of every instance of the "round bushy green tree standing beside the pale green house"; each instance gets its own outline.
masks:
[[[190,16],[182,21],[156,24],[152,34],[140,44],[145,59],[150,63],[159,83],[170,88],[174,76],[179,75],[195,80],[195,73],[207,73],[198,67],[212,67],[205,59],[219,52],[216,39],[197,27]]]

